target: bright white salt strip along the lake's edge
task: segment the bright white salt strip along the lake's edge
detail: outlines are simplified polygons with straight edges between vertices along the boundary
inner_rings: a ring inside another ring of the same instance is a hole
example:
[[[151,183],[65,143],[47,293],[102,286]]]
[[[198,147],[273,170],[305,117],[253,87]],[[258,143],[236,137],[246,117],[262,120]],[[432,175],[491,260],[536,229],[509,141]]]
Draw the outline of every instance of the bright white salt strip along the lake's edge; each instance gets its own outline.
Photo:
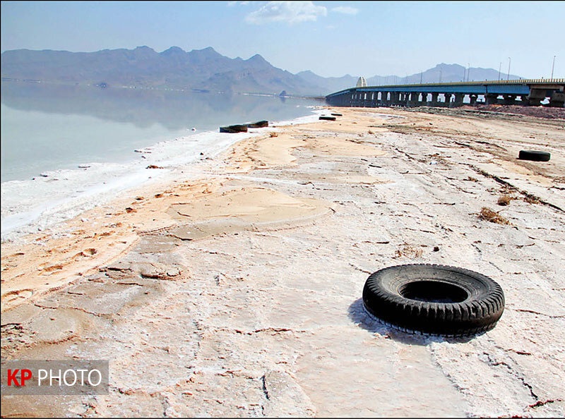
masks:
[[[309,121],[318,112],[314,107],[309,109],[312,115],[292,121],[271,121],[271,124]],[[160,179],[167,181],[167,177],[174,176],[176,171],[198,176],[193,166],[199,161],[216,157],[234,142],[256,135],[261,135],[261,128],[229,136],[217,131],[204,131],[134,150],[141,154],[142,159],[131,162],[79,164],[77,169],[48,171],[32,180],[3,182],[1,241],[14,241],[25,234],[44,231],[87,209],[109,202],[114,195]]]

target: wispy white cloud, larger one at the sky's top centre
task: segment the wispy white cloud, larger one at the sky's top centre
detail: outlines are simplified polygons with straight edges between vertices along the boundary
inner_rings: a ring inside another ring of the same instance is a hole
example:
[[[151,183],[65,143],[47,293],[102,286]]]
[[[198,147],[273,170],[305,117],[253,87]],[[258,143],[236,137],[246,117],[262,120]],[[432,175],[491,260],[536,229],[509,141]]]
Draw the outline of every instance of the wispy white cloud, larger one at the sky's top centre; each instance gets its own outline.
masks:
[[[258,10],[249,13],[245,20],[256,25],[268,22],[292,24],[316,21],[318,16],[327,14],[328,10],[324,6],[316,6],[311,1],[269,1]]]

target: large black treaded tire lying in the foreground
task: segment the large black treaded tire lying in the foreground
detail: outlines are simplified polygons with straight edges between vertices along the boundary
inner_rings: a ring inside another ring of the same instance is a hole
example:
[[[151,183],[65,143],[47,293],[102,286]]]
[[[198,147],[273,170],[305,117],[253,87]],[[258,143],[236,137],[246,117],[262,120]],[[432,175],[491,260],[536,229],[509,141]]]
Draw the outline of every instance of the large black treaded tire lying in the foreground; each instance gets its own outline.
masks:
[[[492,329],[504,311],[504,292],[489,277],[444,265],[397,265],[369,276],[364,307],[393,326],[445,336]]]

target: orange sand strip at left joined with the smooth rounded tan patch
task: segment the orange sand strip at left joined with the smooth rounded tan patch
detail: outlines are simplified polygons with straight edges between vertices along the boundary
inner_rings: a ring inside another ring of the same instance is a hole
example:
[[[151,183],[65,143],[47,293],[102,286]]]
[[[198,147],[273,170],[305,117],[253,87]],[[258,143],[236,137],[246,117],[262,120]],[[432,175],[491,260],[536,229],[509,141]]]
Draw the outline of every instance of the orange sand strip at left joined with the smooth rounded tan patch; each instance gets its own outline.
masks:
[[[145,247],[156,243],[160,239],[146,238],[152,232],[169,229],[173,239],[186,239],[189,231],[189,238],[194,239],[250,229],[251,224],[295,223],[329,210],[319,200],[246,188],[243,183],[230,183],[230,188],[241,190],[227,190],[224,182],[182,182],[164,191],[150,191],[150,196],[159,198],[137,200],[136,211],[131,212],[120,210],[126,207],[124,202],[132,205],[131,198],[125,197],[112,209],[93,209],[69,221],[64,235],[37,234],[23,246],[3,244],[3,253],[10,257],[2,259],[2,310],[25,300],[35,301],[107,265],[141,236],[145,236]],[[174,248],[173,241],[165,242],[165,249]],[[33,293],[28,295],[25,290]]]

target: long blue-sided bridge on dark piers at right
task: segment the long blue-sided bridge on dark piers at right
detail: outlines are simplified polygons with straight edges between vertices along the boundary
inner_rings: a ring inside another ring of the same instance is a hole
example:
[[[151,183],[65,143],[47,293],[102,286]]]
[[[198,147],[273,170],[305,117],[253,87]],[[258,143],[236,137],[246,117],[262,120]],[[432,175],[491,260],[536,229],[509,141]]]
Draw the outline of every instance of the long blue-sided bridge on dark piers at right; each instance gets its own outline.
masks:
[[[484,80],[455,83],[359,86],[326,96],[339,107],[459,107],[463,104],[518,104],[564,107],[565,78]]]

